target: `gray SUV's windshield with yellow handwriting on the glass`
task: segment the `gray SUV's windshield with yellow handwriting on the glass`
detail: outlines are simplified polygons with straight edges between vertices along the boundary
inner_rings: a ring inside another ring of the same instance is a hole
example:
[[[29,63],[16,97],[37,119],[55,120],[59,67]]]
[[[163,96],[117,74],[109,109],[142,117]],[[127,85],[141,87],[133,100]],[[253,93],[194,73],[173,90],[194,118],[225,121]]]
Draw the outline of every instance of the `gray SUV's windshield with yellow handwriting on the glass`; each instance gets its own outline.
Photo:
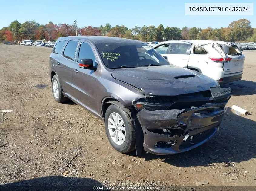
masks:
[[[158,52],[144,43],[96,43],[108,68],[170,65]]]

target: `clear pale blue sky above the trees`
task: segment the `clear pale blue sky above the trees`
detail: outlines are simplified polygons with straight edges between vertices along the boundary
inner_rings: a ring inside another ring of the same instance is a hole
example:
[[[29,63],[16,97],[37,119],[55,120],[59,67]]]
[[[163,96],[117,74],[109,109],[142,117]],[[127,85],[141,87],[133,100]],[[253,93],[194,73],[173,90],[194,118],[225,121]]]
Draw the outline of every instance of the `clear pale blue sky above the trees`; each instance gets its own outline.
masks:
[[[248,19],[256,27],[254,16],[185,16],[185,3],[253,3],[254,0],[2,0],[0,29],[17,19],[20,23],[35,20],[40,24],[72,24],[78,27],[111,26],[128,28],[163,24],[164,27],[227,27],[232,21]],[[255,2],[256,4],[256,2]],[[14,6],[15,5],[15,6]],[[255,5],[254,5],[255,7]],[[39,11],[39,12],[38,12]],[[255,11],[254,11],[255,12]]]

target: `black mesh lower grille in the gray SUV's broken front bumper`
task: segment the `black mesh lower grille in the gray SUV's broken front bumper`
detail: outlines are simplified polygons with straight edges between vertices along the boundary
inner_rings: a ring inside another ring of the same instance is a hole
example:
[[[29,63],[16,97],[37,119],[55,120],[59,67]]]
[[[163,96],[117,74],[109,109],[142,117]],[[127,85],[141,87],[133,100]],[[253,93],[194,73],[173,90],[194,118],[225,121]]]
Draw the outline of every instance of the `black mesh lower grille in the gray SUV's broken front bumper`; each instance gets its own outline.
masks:
[[[186,149],[189,147],[192,147],[193,145],[196,145],[205,139],[209,138],[213,133],[215,132],[215,127],[208,129],[206,131],[203,131],[201,133],[191,135],[188,137],[186,141],[183,141],[181,145],[179,146],[179,149]]]

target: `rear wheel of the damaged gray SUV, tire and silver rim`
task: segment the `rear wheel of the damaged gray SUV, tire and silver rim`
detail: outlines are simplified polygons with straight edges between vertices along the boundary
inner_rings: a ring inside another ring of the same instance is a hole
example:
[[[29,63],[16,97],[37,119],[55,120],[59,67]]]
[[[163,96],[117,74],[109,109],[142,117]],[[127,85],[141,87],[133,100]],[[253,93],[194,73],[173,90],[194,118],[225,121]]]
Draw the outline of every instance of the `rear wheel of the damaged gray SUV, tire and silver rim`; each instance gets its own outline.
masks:
[[[52,78],[52,94],[55,101],[58,103],[63,103],[68,100],[68,98],[64,97],[64,94],[62,93],[62,88],[57,75],[54,75]]]

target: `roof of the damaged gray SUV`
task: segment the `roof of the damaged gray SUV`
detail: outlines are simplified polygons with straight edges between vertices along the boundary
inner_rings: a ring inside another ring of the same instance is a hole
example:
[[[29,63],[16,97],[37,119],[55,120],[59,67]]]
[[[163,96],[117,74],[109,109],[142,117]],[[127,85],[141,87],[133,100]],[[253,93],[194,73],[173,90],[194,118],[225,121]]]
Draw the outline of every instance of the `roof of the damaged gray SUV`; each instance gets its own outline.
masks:
[[[60,40],[68,40],[68,39],[80,39],[80,40],[89,40],[93,43],[143,43],[138,40],[126,39],[126,38],[118,38],[118,37],[106,37],[106,36],[69,36],[69,37],[59,37]]]

